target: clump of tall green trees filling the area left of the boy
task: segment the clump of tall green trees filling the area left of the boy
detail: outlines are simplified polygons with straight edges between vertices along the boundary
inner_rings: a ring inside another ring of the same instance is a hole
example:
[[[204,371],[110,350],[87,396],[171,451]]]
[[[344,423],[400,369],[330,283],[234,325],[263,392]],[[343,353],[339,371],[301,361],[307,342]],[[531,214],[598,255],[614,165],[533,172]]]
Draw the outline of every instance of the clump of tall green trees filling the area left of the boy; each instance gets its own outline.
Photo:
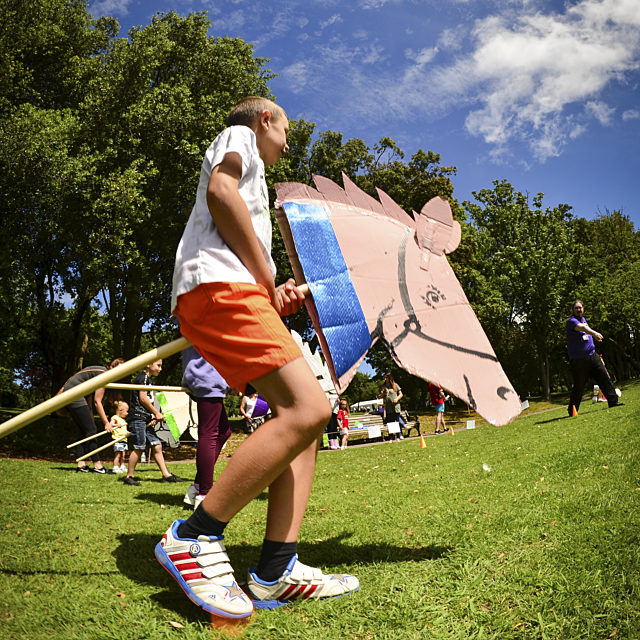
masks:
[[[84,1],[4,4],[0,231],[13,243],[0,344],[55,390],[83,361],[100,302],[111,354],[139,352],[143,327],[166,333],[204,150],[238,99],[270,96],[272,74],[250,45],[210,37],[204,14],[158,15],[117,39]]]

